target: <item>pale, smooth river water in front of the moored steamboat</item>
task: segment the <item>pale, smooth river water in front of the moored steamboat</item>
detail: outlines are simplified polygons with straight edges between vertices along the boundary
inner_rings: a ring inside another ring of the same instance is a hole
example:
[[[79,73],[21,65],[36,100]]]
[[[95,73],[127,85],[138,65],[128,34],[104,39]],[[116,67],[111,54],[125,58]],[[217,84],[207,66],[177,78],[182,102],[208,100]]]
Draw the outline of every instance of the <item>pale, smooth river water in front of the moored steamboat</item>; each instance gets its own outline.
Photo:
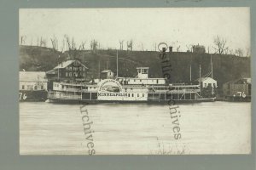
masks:
[[[178,106],[181,139],[168,105],[86,105],[96,155],[250,153],[251,103]],[[79,107],[20,102],[20,154],[88,155]]]

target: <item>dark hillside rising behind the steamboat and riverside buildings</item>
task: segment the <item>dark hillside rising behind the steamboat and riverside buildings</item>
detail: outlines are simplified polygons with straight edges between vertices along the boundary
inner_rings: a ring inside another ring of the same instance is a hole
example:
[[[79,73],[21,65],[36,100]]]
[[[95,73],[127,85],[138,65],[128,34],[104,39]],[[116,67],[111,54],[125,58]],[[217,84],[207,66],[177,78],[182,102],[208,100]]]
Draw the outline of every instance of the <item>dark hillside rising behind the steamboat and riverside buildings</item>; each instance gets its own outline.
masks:
[[[149,77],[162,77],[159,52],[126,51],[118,52],[119,77],[136,77],[137,66],[148,66]],[[116,50],[66,51],[61,53],[52,48],[20,46],[20,71],[49,71],[66,59],[80,59],[89,68],[88,77],[98,78],[99,72],[110,69],[116,73]],[[189,82],[190,65],[192,81],[211,71],[211,54],[195,54],[184,52],[168,53],[172,64],[172,81]],[[227,54],[212,54],[213,78],[218,87],[241,77],[250,77],[250,58]]]

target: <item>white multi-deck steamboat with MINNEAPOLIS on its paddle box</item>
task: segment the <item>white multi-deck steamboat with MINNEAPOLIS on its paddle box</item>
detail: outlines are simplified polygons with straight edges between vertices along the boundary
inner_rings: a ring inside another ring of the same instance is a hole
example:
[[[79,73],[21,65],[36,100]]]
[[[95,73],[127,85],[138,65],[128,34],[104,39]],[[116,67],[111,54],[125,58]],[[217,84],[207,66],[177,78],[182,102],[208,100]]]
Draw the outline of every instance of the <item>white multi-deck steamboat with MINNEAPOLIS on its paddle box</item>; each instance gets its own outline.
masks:
[[[164,103],[214,101],[203,98],[200,85],[168,84],[165,78],[148,78],[149,67],[137,67],[137,77],[113,77],[91,82],[53,82],[49,102]]]

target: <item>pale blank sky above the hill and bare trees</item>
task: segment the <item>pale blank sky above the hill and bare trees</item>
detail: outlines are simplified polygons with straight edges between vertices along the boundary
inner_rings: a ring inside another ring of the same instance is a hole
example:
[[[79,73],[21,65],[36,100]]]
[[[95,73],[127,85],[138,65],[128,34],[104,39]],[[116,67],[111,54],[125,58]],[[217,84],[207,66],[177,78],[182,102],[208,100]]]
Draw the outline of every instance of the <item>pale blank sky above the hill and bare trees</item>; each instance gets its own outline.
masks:
[[[204,45],[214,53],[218,36],[227,46],[250,48],[249,8],[21,8],[20,37],[25,44],[37,45],[43,37],[47,47],[56,37],[61,48],[64,35],[78,45],[96,39],[101,48],[119,48],[119,41],[133,41],[135,50],[154,50],[166,42],[174,51],[187,51],[191,45]]]

